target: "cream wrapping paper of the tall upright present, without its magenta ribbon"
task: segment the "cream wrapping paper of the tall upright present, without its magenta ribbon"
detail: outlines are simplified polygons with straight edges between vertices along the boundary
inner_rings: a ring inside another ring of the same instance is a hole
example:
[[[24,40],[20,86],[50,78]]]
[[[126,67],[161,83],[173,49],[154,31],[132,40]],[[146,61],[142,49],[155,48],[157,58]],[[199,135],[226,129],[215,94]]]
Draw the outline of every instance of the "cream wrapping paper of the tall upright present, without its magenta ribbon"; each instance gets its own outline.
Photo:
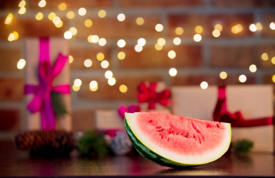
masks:
[[[68,55],[69,45],[68,40],[64,38],[50,38],[49,39],[49,58],[50,63],[56,61],[59,53],[63,55]],[[25,41],[25,59],[26,59],[26,75],[25,83],[37,85],[39,83],[38,78],[38,64],[39,64],[39,55],[40,55],[40,43],[38,38],[26,39]],[[70,71],[69,71],[69,62],[65,63],[61,72],[54,78],[52,86],[57,86],[60,84],[69,84],[70,83]],[[33,94],[26,95],[26,105],[34,97]],[[71,96],[70,94],[61,94],[61,99],[68,111],[64,117],[56,118],[56,129],[63,129],[70,131],[72,130],[72,121],[71,121]],[[31,113],[27,111],[27,129],[28,130],[37,130],[41,129],[41,118],[40,112]]]

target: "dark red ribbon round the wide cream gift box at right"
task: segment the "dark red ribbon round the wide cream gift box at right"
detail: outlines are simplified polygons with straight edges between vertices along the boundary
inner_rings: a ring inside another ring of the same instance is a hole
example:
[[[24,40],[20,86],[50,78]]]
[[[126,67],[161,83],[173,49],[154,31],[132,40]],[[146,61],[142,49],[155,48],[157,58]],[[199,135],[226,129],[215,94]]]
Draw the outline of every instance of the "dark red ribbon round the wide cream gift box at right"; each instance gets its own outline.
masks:
[[[232,114],[226,107],[226,87],[218,88],[218,101],[213,113],[213,120],[230,123],[232,127],[255,127],[262,125],[273,125],[273,117],[244,120],[240,111]]]

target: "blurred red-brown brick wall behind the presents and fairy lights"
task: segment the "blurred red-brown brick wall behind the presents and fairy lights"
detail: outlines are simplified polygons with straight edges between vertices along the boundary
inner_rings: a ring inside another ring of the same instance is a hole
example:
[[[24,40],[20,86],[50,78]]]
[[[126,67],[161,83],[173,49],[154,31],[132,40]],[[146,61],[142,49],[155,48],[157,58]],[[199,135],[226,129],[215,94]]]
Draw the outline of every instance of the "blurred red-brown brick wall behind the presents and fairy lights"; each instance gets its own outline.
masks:
[[[210,85],[218,84],[273,84],[275,65],[271,58],[275,56],[275,30],[269,25],[275,22],[274,0],[46,0],[45,7],[38,7],[38,0],[26,0],[26,13],[20,15],[20,0],[3,1],[0,5],[0,133],[2,138],[9,138],[18,130],[24,130],[26,103],[24,101],[24,68],[17,69],[19,59],[24,59],[24,39],[29,37],[63,37],[70,27],[78,33],[69,40],[71,83],[76,78],[82,80],[79,91],[72,90],[73,130],[86,130],[94,127],[96,109],[116,109],[121,103],[137,103],[136,87],[141,81],[164,81],[167,87],[173,85],[199,85],[207,81]],[[67,9],[59,10],[65,2]],[[80,16],[78,9],[84,7],[86,15]],[[106,17],[98,17],[98,11],[105,10]],[[75,12],[75,18],[66,18],[68,11]],[[35,15],[42,12],[42,20]],[[50,12],[56,13],[63,22],[61,28],[54,26],[48,19]],[[12,23],[5,24],[5,18],[13,14]],[[124,21],[118,21],[117,15],[123,13]],[[144,19],[143,25],[136,24],[136,18]],[[91,27],[84,21],[92,20]],[[261,23],[262,30],[252,32],[249,25]],[[163,24],[161,32],[155,30],[156,24]],[[216,24],[223,29],[219,37],[213,37]],[[232,27],[241,24],[243,30],[238,33]],[[202,40],[195,42],[195,27],[202,26]],[[175,34],[175,28],[182,27],[183,34]],[[18,40],[9,42],[8,36],[16,31]],[[89,35],[98,35],[107,40],[106,45],[89,43]],[[179,37],[180,45],[174,45],[173,39]],[[139,38],[146,40],[141,52],[134,46]],[[166,44],[158,51],[155,44],[158,38],[164,38]],[[117,41],[124,39],[123,48]],[[167,53],[173,50],[174,59]],[[117,58],[123,51],[126,57]],[[96,54],[102,52],[109,67],[103,69]],[[269,59],[263,61],[261,55],[267,53]],[[86,59],[92,60],[92,66],[84,66]],[[257,71],[252,73],[249,66],[255,64]],[[177,69],[177,75],[169,75],[170,68]],[[104,77],[106,70],[113,72],[116,84],[110,86]],[[227,72],[227,78],[219,78],[219,73]],[[238,76],[246,75],[244,83]],[[89,90],[90,81],[98,83],[97,91]],[[119,91],[119,86],[128,87],[126,93]]]

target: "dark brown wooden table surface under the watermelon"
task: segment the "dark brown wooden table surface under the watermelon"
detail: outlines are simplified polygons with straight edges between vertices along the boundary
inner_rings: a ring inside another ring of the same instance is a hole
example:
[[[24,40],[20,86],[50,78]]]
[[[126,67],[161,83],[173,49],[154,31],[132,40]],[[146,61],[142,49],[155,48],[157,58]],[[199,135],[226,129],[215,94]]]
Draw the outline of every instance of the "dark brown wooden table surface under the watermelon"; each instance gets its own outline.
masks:
[[[190,169],[156,165],[141,155],[67,158],[31,157],[13,143],[0,142],[0,177],[275,177],[273,154],[225,154],[211,163]]]

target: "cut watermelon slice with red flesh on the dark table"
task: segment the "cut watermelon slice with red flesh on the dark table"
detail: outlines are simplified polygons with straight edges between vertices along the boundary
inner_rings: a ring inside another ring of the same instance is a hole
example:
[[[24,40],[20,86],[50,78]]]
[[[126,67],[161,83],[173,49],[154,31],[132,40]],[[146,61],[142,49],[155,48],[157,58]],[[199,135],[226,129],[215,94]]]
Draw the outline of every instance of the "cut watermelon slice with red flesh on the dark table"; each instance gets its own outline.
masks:
[[[125,113],[125,128],[138,152],[171,168],[200,166],[229,148],[229,123],[192,119],[167,113]]]

